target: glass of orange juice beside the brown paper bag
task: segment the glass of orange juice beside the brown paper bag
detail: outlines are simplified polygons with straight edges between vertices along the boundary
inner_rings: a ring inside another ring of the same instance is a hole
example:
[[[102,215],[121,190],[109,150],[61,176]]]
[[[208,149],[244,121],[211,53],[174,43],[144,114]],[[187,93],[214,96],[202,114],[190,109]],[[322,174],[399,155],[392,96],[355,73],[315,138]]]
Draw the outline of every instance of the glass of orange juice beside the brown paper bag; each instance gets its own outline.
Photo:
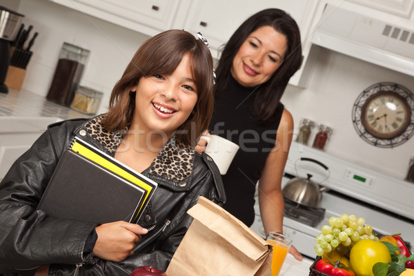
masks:
[[[266,237],[266,242],[273,246],[272,276],[277,276],[279,275],[286,255],[288,255],[292,239],[281,233],[269,232]]]

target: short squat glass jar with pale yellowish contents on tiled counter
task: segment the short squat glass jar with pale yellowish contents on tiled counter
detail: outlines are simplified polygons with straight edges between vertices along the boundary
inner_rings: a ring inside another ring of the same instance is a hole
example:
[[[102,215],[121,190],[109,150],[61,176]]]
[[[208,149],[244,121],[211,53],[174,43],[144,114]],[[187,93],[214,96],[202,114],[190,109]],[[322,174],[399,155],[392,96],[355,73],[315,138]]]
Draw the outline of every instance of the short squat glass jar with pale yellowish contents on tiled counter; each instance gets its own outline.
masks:
[[[78,86],[70,108],[79,112],[93,115],[99,108],[103,93],[85,86]]]

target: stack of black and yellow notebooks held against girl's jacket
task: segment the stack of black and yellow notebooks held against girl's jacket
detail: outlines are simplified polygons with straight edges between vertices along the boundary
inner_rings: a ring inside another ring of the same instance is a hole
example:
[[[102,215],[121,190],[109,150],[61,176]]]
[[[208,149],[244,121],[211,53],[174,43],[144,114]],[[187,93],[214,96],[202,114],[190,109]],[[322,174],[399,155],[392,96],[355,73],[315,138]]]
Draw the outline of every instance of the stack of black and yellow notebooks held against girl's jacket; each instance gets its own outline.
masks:
[[[89,158],[90,154],[86,157],[75,150],[65,150],[37,209],[62,219],[136,223],[157,183],[97,152],[106,162],[93,161],[96,158]],[[115,164],[116,169],[108,164]]]

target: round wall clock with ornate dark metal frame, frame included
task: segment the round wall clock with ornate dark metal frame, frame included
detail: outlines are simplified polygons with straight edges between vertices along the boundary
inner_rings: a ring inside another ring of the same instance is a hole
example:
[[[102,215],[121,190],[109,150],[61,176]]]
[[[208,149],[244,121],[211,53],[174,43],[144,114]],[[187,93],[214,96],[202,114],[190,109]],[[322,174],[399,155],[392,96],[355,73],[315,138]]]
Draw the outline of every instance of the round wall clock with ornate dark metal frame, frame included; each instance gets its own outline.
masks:
[[[400,146],[414,135],[414,95],[397,83],[376,83],[357,97],[352,119],[359,137],[368,144]]]

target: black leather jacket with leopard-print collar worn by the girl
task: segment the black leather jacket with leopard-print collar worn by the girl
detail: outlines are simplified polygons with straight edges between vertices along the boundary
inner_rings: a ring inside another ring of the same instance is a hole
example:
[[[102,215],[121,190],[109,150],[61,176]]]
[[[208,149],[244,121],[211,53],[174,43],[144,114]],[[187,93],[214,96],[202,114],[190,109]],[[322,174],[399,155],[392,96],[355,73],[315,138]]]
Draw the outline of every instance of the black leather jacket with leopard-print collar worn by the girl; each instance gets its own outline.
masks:
[[[86,239],[97,225],[57,219],[36,208],[59,157],[75,135],[115,155],[126,130],[108,133],[99,122],[98,116],[50,125],[1,181],[0,275],[24,275],[22,269],[45,264],[50,264],[49,275],[73,275],[77,265],[77,275],[130,275],[143,265],[166,270],[193,220],[186,211],[199,196],[224,203],[221,177],[210,157],[178,148],[170,139],[143,172],[159,188],[138,222],[151,230],[143,235],[137,253],[120,263],[84,256]]]

